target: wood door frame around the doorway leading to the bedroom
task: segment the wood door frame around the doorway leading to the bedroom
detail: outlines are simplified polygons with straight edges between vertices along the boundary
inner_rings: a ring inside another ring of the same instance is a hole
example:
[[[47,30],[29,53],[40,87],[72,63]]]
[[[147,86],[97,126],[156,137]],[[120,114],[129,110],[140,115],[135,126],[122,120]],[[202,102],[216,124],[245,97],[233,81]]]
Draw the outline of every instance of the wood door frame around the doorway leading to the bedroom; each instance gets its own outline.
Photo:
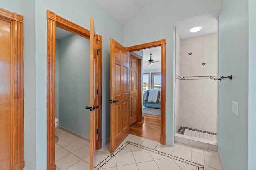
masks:
[[[126,47],[130,52],[138,51],[142,49],[152,48],[161,46],[161,135],[160,143],[166,144],[166,135],[165,135],[165,98],[166,98],[166,39],[161,39],[159,41],[153,41],[150,43],[144,43],[140,45],[134,45]],[[140,113],[138,113],[140,114]],[[141,117],[141,115],[138,115]]]

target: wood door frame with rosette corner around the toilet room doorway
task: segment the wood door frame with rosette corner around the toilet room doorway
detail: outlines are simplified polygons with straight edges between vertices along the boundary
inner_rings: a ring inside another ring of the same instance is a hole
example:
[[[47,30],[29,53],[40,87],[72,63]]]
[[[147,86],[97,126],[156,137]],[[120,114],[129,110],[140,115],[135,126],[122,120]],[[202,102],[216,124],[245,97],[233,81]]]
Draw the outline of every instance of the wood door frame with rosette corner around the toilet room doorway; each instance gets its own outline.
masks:
[[[55,27],[60,27],[76,35],[90,40],[90,31],[71,21],[62,18],[56,13],[47,10],[47,167],[46,170],[55,170]],[[101,49],[102,36],[96,35],[97,47]],[[102,50],[98,50],[98,115],[97,128],[101,129],[101,103],[102,103]],[[100,119],[100,121],[99,121]],[[90,129],[91,131],[92,129]],[[96,148],[102,147],[101,130],[98,133]]]

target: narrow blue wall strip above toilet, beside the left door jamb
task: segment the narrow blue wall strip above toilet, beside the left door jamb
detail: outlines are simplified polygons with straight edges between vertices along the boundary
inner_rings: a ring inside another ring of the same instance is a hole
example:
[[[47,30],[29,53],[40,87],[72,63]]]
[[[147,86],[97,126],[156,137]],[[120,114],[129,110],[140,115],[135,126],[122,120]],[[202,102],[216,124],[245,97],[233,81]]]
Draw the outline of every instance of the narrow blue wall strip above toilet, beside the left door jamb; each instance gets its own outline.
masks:
[[[55,39],[55,117],[59,119],[60,105],[60,40]]]

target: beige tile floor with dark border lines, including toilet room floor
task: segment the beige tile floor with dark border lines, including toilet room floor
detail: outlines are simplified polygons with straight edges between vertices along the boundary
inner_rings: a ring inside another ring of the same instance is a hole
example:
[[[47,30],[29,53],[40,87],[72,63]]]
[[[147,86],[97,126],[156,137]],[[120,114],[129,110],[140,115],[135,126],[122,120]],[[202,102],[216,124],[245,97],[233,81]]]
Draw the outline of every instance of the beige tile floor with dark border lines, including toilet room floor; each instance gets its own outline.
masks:
[[[87,141],[60,129],[56,139],[56,170],[89,170]],[[109,143],[97,150],[96,170],[222,170],[217,152],[182,143],[169,147],[130,134],[112,156],[109,150]]]

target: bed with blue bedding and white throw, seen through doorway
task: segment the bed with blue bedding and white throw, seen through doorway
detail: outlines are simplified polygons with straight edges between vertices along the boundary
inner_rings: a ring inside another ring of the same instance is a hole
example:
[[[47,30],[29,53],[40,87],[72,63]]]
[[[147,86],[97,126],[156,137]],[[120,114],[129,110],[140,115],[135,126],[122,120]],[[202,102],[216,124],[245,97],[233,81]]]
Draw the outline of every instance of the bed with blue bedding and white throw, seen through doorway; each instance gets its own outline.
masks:
[[[143,94],[143,106],[161,109],[161,89],[146,90]]]

